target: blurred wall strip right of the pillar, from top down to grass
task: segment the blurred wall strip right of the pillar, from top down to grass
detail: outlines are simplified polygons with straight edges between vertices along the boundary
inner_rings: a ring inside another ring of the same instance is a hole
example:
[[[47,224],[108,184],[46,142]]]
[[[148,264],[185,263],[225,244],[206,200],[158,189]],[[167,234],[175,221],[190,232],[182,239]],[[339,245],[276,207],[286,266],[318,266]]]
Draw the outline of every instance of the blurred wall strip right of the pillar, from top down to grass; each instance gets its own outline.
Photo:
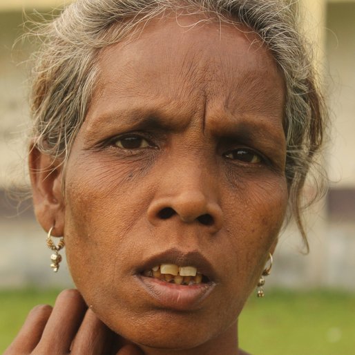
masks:
[[[346,287],[355,270],[355,2],[327,8],[327,75],[332,144],[327,149],[327,283]]]

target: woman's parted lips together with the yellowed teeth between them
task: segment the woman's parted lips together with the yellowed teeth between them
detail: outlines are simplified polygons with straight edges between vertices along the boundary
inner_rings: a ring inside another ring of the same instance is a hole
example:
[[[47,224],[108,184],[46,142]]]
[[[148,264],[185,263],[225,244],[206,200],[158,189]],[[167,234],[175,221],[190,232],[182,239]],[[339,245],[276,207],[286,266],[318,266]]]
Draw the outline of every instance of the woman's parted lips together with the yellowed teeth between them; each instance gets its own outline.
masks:
[[[199,309],[218,285],[218,273],[200,251],[171,248],[133,270],[137,281],[163,309]]]

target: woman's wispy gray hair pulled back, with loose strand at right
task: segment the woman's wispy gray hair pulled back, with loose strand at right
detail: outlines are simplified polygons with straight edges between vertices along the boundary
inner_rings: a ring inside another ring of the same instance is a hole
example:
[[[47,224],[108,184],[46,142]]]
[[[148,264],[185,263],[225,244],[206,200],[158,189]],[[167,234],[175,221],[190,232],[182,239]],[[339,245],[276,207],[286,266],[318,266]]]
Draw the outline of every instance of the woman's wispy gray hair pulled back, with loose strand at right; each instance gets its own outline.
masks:
[[[326,111],[300,35],[294,4],[282,0],[77,0],[39,32],[33,69],[32,140],[42,153],[64,164],[86,117],[98,77],[102,48],[131,35],[166,11],[203,14],[244,24],[269,48],[285,78],[286,178],[289,211],[308,249],[301,218],[302,193],[314,155],[323,141]]]

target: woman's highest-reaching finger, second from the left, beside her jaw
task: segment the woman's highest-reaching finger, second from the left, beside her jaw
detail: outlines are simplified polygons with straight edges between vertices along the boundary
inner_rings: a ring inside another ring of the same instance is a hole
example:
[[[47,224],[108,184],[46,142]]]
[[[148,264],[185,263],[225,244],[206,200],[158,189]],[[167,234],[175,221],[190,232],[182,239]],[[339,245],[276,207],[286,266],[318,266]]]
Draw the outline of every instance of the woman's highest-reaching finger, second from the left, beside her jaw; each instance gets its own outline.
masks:
[[[84,318],[86,305],[76,289],[61,291],[36,350],[39,354],[66,354]]]

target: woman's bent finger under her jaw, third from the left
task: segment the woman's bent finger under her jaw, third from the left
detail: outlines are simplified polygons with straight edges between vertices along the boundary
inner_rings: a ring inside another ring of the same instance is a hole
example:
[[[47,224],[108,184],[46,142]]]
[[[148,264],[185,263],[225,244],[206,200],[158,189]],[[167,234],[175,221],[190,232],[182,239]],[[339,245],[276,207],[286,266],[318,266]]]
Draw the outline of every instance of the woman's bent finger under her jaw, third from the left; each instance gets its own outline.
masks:
[[[86,311],[85,317],[71,348],[73,355],[108,354],[112,343],[113,333],[95,315],[91,309]]]

